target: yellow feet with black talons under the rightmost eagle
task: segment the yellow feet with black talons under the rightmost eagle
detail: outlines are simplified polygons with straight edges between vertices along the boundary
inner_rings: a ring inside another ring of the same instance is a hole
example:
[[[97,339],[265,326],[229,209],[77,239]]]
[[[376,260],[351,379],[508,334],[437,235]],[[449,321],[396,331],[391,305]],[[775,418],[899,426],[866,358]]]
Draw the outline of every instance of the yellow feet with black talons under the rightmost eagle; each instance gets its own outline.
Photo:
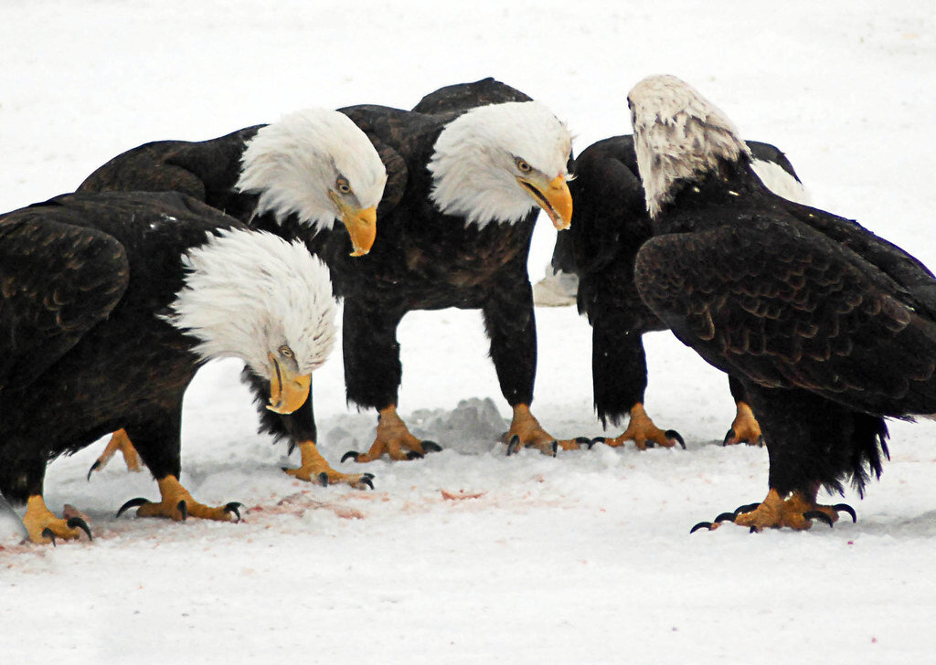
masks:
[[[856,521],[855,509],[846,503],[837,503],[834,506],[820,505],[815,497],[810,499],[801,492],[791,492],[782,498],[780,493],[771,488],[767,499],[760,503],[740,506],[734,513],[722,513],[712,522],[699,522],[690,530],[690,533],[700,528],[714,529],[722,522],[734,522],[740,527],[762,531],[765,528],[795,528],[802,531],[812,527],[812,520],[820,520],[831,527],[839,521],[839,513],[848,513],[852,521]]]

